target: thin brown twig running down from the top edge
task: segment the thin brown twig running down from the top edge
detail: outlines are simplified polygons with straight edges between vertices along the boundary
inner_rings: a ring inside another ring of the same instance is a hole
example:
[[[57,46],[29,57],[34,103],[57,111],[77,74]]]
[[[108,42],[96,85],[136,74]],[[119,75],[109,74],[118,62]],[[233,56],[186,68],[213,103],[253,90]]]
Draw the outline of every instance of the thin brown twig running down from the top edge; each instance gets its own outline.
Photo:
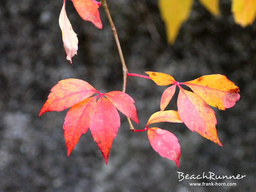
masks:
[[[113,20],[112,20],[112,18],[110,16],[110,13],[109,13],[109,10],[108,10],[107,1],[106,0],[102,0],[100,2],[100,4],[101,4],[101,6],[103,7],[104,11],[106,12],[106,14],[108,16],[108,21],[110,23],[112,33],[113,33],[114,38],[116,40],[116,46],[117,46],[117,49],[118,49],[119,57],[121,59],[122,68],[123,68],[123,92],[125,92],[126,83],[127,83],[128,68],[127,68],[127,66],[125,64],[125,61],[124,61],[124,56],[123,56],[123,52],[122,52],[122,49],[121,49],[121,45],[119,43],[119,39],[118,39],[118,35],[117,35],[117,32],[116,32],[115,25],[113,23]],[[130,131],[134,131],[134,127],[132,125],[131,119],[127,117],[127,120],[128,120],[128,123],[129,123]]]

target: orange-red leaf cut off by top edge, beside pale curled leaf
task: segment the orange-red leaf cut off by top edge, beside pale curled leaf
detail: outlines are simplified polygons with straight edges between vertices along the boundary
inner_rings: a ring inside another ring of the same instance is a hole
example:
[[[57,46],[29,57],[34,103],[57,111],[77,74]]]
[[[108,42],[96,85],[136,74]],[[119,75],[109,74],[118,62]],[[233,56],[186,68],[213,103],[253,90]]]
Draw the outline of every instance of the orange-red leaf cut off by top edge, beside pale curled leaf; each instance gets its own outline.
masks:
[[[93,0],[72,0],[76,11],[84,20],[91,21],[95,27],[102,28],[99,2]]]

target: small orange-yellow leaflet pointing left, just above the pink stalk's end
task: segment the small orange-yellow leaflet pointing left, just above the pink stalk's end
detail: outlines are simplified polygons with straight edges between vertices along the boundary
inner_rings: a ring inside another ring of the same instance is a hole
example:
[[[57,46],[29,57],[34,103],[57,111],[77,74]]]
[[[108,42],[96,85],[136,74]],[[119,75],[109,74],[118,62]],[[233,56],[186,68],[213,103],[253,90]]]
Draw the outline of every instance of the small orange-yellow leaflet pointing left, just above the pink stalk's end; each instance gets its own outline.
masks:
[[[149,75],[149,77],[157,84],[157,85],[169,85],[172,84],[174,82],[176,82],[174,80],[174,78],[168,74],[165,73],[159,73],[159,72],[151,72],[151,71],[147,71],[145,72]]]

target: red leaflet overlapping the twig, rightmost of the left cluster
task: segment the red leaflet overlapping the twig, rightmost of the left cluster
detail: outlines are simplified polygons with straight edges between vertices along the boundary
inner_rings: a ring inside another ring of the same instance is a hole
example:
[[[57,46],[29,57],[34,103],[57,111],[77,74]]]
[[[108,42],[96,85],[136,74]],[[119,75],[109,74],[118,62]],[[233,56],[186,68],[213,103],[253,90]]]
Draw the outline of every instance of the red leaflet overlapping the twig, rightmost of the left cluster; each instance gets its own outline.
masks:
[[[136,108],[133,104],[135,101],[128,94],[121,91],[112,91],[104,93],[103,95],[105,95],[125,116],[129,117],[134,122],[139,123]]]

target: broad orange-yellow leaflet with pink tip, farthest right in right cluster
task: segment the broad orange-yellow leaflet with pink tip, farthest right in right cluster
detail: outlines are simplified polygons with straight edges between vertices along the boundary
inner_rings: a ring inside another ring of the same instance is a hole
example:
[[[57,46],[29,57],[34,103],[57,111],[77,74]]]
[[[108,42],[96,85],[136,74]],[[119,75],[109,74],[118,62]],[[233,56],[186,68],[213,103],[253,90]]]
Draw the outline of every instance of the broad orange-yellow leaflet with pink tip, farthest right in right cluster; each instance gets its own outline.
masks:
[[[239,88],[224,75],[206,75],[184,83],[212,107],[231,108],[239,100]]]

